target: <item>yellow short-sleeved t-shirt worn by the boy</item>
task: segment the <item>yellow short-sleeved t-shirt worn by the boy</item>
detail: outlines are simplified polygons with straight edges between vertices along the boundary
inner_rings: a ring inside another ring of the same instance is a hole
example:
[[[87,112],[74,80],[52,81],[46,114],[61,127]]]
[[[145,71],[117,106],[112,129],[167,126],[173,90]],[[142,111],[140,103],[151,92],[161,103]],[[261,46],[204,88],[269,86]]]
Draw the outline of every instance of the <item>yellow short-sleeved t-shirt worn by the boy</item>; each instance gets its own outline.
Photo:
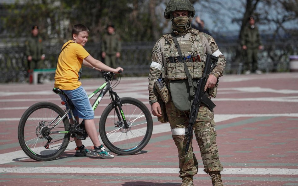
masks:
[[[62,48],[73,40],[67,41]],[[77,43],[70,43],[61,52],[55,74],[55,88],[74,90],[82,84],[80,73],[83,59],[90,54]]]

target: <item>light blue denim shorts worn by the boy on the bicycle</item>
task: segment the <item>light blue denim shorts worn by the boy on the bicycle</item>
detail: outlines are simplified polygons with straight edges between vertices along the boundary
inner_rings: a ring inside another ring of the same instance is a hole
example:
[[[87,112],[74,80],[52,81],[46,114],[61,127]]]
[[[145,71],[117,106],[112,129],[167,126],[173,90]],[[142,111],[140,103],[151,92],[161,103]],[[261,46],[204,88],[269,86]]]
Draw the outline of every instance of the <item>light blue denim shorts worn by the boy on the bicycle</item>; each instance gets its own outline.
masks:
[[[63,90],[63,92],[74,105],[74,109],[72,109],[74,116],[79,116],[79,118],[85,120],[94,119],[94,111],[91,107],[86,90],[82,86],[74,90]],[[62,101],[66,101],[64,95],[60,95],[60,97]],[[66,108],[69,108],[69,105],[66,105]],[[68,116],[71,118],[70,114]]]

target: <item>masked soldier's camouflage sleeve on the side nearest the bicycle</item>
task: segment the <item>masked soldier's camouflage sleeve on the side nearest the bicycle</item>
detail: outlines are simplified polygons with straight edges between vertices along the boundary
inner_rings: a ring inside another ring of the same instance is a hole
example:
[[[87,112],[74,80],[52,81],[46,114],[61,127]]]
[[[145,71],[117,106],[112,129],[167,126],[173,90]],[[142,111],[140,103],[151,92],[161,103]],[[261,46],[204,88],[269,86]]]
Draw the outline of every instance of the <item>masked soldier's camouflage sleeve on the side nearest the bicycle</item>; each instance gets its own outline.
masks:
[[[163,68],[163,55],[162,55],[162,47],[164,45],[164,38],[160,38],[153,47],[152,50],[152,57],[151,57],[151,65],[149,71],[149,100],[156,101],[158,100],[158,93],[157,91],[153,90],[154,82],[157,78],[162,75],[162,68]]]

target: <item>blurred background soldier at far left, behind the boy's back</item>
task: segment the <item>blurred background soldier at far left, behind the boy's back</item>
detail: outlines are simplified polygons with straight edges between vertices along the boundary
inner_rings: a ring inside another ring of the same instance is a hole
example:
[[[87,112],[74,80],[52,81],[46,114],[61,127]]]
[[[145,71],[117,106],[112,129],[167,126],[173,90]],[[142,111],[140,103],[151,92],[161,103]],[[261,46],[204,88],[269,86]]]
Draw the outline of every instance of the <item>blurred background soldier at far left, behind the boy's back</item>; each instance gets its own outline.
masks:
[[[39,36],[38,26],[33,26],[31,36],[25,41],[25,56],[28,61],[29,83],[32,83],[33,69],[41,68],[41,61],[45,59],[42,49],[42,39]],[[38,83],[41,75],[38,76]]]

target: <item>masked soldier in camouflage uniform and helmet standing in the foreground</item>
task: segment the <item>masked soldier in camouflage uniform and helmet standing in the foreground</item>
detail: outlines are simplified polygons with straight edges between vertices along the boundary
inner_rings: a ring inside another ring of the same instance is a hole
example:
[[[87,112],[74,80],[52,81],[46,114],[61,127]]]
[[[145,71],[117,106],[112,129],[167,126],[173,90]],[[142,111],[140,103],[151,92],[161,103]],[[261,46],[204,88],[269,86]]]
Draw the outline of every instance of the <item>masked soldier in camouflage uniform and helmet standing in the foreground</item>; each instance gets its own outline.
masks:
[[[169,89],[169,82],[187,79],[183,62],[169,60],[176,59],[177,56],[179,56],[172,35],[176,35],[181,51],[184,54],[183,57],[191,55],[191,59],[193,59],[186,61],[193,80],[202,76],[207,54],[212,54],[219,58],[218,64],[209,75],[205,86],[209,98],[216,96],[218,80],[219,77],[223,75],[226,60],[210,35],[191,28],[190,22],[194,15],[194,7],[188,0],[170,0],[165,9],[164,17],[171,19],[173,32],[163,35],[163,37],[156,42],[152,50],[148,89],[151,110],[154,116],[161,117],[162,115],[161,107],[158,102],[159,94],[154,89],[155,80],[162,76]],[[199,57],[193,58],[193,56],[198,55]],[[185,131],[188,128],[190,112],[178,110],[174,106],[171,95],[168,103],[165,103],[165,108],[173,140],[178,148],[179,177],[182,178],[182,186],[192,186],[193,175],[197,173],[198,162],[193,153],[192,142],[190,142],[190,148],[187,154],[185,154],[185,146],[188,138],[188,136],[185,135]],[[217,133],[214,127],[213,111],[210,111],[204,104],[201,104],[193,129],[200,147],[204,171],[211,176],[213,186],[222,186],[220,172],[223,170],[223,165],[219,160],[218,147],[216,144]]]

